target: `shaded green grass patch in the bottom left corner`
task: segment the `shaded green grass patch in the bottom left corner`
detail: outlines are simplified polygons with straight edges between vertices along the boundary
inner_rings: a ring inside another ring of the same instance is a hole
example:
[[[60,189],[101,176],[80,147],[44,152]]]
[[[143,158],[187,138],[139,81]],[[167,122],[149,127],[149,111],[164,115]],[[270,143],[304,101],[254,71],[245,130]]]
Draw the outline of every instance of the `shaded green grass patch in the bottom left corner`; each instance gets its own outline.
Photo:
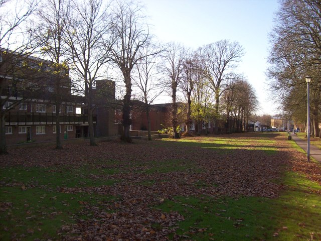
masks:
[[[23,238],[22,240],[55,237],[62,225],[70,226],[77,219],[86,219],[92,215],[86,212],[84,205],[99,206],[115,198],[108,195],[55,192],[42,188],[24,190],[20,186],[1,187],[0,192],[2,208],[5,209],[0,217],[1,240],[12,240],[13,234],[17,234],[17,238]]]

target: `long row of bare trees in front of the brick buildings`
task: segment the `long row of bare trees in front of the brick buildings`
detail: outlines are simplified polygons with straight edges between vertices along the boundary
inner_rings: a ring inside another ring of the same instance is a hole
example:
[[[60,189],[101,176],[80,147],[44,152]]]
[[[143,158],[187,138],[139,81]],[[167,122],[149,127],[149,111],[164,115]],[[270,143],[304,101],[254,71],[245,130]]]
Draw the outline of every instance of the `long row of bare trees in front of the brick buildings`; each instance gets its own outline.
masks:
[[[13,8],[14,2],[24,3],[21,5],[24,7],[6,18],[8,9],[19,9],[18,6]],[[187,127],[192,118],[199,122],[214,119],[216,132],[218,120],[222,118],[230,131],[235,126],[239,130],[245,129],[247,119],[257,106],[251,85],[234,72],[244,54],[237,42],[222,40],[196,51],[175,43],[156,45],[143,8],[131,1],[5,0],[0,4],[1,19],[8,20],[1,22],[0,47],[24,56],[38,53],[54,63],[48,71],[55,76],[57,109],[63,101],[59,87],[66,81],[66,67],[69,66],[72,86],[88,103],[90,145],[95,145],[92,123],[95,81],[105,78],[107,71],[122,76],[124,131],[121,138],[127,142],[131,142],[133,85],[140,90],[147,116],[155,97],[164,89],[171,92],[172,126],[176,138],[179,137],[176,127],[179,125],[178,96],[181,93],[188,106]],[[1,101],[3,106],[6,100]],[[56,114],[56,146],[60,149],[59,111]],[[4,118],[4,112],[1,116]]]

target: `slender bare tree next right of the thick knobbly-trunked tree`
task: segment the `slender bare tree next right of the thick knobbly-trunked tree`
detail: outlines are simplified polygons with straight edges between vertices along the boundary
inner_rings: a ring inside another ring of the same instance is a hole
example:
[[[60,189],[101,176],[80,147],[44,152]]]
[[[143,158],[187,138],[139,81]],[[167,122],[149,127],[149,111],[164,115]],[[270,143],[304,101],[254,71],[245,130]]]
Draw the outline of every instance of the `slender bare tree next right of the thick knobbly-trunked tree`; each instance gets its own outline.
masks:
[[[151,44],[140,49],[136,64],[136,76],[133,78],[134,85],[140,90],[140,97],[144,102],[147,117],[148,141],[151,141],[150,134],[150,104],[164,91],[157,76],[157,54],[160,50]]]

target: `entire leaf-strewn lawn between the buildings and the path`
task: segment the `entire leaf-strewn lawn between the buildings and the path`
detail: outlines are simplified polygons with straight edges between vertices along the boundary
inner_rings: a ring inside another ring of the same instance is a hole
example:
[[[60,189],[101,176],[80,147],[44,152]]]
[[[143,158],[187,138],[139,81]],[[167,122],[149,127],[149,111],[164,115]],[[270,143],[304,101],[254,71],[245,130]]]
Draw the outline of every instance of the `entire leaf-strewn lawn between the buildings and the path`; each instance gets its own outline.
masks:
[[[0,156],[0,240],[321,240],[321,166],[282,133]]]

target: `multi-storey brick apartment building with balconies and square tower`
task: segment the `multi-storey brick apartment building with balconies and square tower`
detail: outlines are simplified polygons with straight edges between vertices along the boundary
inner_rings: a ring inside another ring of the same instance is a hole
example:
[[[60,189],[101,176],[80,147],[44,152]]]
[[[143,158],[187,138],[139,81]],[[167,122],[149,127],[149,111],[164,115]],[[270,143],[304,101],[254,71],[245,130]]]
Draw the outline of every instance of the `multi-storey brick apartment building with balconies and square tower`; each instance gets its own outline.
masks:
[[[108,105],[115,99],[115,84],[99,80],[94,91],[103,87],[106,95],[94,94],[96,137],[118,134]],[[66,66],[0,49],[0,91],[7,144],[55,141],[57,111],[62,140],[89,136],[86,100],[73,93]]]

